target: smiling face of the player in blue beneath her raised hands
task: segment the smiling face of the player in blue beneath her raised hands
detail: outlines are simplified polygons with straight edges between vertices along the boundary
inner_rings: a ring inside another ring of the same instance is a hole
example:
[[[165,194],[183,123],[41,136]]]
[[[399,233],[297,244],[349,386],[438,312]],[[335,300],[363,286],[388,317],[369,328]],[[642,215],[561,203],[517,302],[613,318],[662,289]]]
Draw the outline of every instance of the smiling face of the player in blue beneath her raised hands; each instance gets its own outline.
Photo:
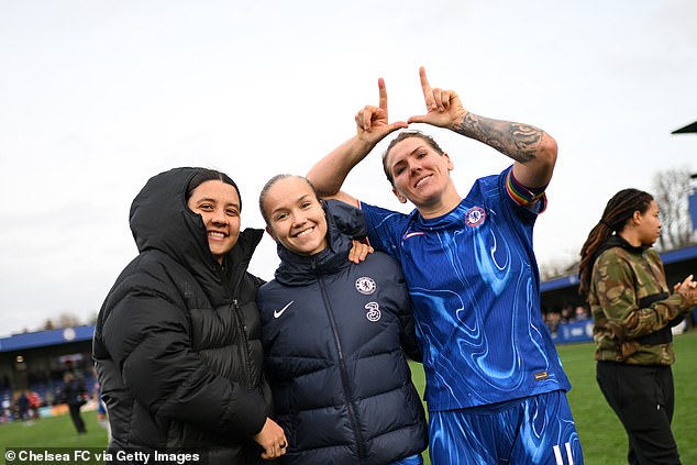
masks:
[[[438,153],[422,139],[408,137],[397,143],[385,164],[392,178],[392,191],[402,203],[408,199],[419,210],[452,203],[446,197],[455,192],[450,177],[453,163],[447,154]]]

